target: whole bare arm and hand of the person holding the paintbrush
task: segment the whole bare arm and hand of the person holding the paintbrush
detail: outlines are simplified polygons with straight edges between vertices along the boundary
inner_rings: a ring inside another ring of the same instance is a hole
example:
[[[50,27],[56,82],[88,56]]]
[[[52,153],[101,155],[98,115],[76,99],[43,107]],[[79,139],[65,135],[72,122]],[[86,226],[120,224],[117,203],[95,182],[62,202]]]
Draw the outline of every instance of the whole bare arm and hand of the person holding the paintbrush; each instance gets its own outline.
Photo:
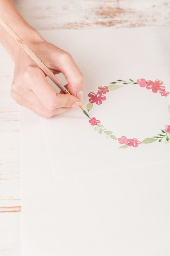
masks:
[[[57,94],[47,82],[44,72],[35,64],[7,31],[0,25],[0,43],[5,47],[15,63],[11,97],[37,115],[50,118],[76,108],[83,101],[84,77],[72,56],[48,43],[17,12],[12,0],[0,0],[0,16],[33,49],[41,60],[54,72],[63,73],[70,91]]]

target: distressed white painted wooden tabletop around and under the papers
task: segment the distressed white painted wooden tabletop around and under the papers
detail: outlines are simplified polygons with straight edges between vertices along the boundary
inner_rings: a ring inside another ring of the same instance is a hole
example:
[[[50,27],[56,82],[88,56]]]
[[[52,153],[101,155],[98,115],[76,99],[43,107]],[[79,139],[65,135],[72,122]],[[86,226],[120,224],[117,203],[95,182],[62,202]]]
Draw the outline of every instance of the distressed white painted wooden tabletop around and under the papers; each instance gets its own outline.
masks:
[[[35,29],[170,25],[168,0],[15,0]],[[11,99],[13,63],[0,46],[0,255],[20,255],[19,111]]]

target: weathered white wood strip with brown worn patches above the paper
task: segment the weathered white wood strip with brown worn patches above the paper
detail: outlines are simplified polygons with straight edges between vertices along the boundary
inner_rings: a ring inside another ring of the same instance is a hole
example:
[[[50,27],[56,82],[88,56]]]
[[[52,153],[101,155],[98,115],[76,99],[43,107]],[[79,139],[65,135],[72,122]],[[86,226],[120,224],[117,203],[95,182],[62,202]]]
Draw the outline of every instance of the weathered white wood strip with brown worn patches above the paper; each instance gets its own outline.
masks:
[[[16,0],[35,29],[170,25],[168,0]],[[41,4],[40,4],[41,3]]]

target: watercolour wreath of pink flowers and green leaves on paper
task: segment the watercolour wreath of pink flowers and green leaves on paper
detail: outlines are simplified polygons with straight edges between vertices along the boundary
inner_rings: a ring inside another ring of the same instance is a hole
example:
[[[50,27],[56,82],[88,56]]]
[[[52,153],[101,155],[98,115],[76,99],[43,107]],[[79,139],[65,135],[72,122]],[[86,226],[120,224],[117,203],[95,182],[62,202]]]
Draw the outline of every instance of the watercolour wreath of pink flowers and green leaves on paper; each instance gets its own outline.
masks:
[[[87,104],[87,111],[89,115],[89,111],[93,108],[93,104],[100,105],[102,104],[102,101],[106,100],[105,94],[107,94],[110,91],[119,89],[123,87],[124,85],[122,84],[137,84],[140,87],[145,87],[148,90],[152,90],[154,93],[160,93],[160,96],[167,97],[169,92],[166,92],[166,88],[163,85],[163,82],[160,80],[155,80],[153,81],[146,81],[145,79],[138,79],[136,82],[133,81],[132,79],[129,79],[129,81],[124,81],[124,80],[116,80],[116,82],[110,83],[109,86],[100,86],[98,87],[98,92],[95,94],[94,92],[90,92],[88,94],[89,97],[89,103]],[[168,106],[169,113],[170,113],[170,106]],[[90,118],[90,117],[89,117]],[[98,130],[99,134],[105,133],[106,138],[108,139],[109,137],[111,139],[117,139],[115,135],[113,135],[113,132],[107,130],[102,124],[100,124],[100,120],[96,119],[95,117],[90,118],[89,123],[92,126],[95,126],[94,130]],[[139,144],[148,144],[152,143],[154,141],[159,141],[161,142],[163,139],[165,139],[165,143],[170,142],[170,125],[166,124],[164,129],[161,129],[161,133],[157,134],[157,136],[153,136],[150,138],[146,138],[142,141],[139,141],[137,138],[133,139],[128,139],[126,136],[122,136],[121,138],[118,138],[119,144],[123,144],[120,146],[120,148],[127,148],[127,147],[137,147]]]

